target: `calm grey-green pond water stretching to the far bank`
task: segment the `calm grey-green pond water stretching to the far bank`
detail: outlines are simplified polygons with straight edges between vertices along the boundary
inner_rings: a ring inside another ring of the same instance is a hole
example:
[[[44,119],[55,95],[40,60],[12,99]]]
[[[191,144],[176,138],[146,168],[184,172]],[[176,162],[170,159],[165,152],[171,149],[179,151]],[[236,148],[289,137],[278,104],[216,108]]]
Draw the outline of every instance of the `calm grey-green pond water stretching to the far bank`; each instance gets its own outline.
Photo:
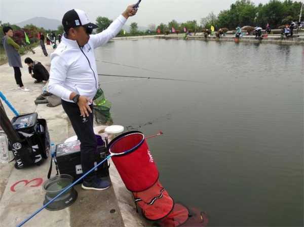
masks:
[[[145,135],[160,179],[210,226],[303,225],[304,47],[138,40],[96,50],[115,124]]]

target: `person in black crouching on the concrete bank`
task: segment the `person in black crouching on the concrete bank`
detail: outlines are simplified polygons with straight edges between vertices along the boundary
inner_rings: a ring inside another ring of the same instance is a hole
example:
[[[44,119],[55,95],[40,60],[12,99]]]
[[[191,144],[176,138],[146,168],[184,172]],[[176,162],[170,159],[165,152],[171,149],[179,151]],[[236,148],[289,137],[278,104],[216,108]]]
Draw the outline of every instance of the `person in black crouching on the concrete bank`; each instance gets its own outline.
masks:
[[[35,79],[35,84],[41,83],[43,81],[47,82],[49,80],[49,72],[45,66],[43,66],[43,64],[38,61],[33,61],[29,57],[25,58],[24,62],[28,65],[28,72],[31,77]]]

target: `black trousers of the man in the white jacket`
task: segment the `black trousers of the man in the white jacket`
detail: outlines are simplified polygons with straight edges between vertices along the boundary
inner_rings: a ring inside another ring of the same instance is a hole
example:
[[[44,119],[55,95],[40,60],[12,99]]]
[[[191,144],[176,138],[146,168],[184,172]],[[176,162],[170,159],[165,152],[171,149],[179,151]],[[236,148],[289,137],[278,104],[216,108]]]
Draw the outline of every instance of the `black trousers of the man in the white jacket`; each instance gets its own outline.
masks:
[[[95,153],[97,150],[97,140],[93,130],[93,112],[89,117],[81,117],[77,104],[61,100],[62,107],[66,112],[72,127],[81,142],[81,165],[83,173],[88,172],[94,167]],[[93,106],[90,106],[91,109]],[[91,181],[95,176],[95,172],[86,177],[86,181]]]

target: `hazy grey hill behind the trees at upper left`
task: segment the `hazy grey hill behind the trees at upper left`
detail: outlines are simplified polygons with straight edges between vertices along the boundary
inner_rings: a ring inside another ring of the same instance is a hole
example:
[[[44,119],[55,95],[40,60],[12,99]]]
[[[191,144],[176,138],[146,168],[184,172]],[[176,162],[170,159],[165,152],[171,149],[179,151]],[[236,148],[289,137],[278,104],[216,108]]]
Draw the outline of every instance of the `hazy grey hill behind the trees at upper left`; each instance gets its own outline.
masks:
[[[57,27],[61,24],[60,20],[49,19],[45,17],[34,17],[18,23],[19,27],[23,27],[27,24],[33,24],[37,27],[43,27],[45,29],[57,30]]]

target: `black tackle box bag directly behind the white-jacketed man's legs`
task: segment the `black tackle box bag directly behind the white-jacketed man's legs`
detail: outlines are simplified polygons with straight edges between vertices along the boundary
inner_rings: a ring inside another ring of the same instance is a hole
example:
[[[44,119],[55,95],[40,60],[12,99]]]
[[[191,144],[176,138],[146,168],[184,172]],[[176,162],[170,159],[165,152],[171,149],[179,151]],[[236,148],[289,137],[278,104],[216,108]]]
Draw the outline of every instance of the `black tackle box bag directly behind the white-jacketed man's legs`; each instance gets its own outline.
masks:
[[[104,145],[97,147],[95,152],[95,166],[106,158],[106,148]],[[80,141],[72,141],[68,143],[60,143],[56,145],[56,153],[52,155],[54,159],[56,171],[60,174],[68,174],[74,178],[74,181],[82,177]],[[107,177],[109,175],[109,165],[104,162],[101,166],[95,169],[97,177]],[[52,160],[48,173],[50,178],[52,172]],[[81,183],[80,181],[79,183]]]

